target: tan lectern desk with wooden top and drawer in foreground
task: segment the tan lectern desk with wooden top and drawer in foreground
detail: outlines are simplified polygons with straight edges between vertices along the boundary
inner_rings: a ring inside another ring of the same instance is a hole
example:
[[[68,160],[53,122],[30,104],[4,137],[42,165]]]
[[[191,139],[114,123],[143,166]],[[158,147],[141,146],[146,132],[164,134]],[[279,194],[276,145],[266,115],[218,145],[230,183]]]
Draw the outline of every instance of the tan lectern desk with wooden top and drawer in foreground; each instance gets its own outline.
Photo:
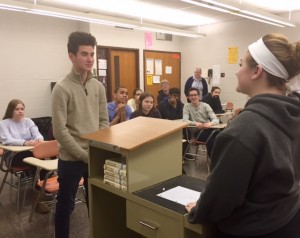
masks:
[[[201,226],[186,221],[184,206],[153,199],[161,186],[184,181],[197,190],[203,186],[201,180],[182,175],[182,129],[186,126],[182,121],[138,117],[82,136],[89,140],[92,238],[200,236]],[[111,158],[126,164],[127,191],[103,182],[103,165]]]

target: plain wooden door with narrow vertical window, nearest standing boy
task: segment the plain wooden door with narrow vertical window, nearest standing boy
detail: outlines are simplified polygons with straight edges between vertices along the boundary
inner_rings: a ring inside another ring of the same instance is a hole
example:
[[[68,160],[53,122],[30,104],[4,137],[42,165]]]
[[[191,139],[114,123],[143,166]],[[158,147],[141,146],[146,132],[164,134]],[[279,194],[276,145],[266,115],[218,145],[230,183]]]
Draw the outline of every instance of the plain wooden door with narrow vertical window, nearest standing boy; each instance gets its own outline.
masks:
[[[113,92],[119,86],[128,89],[128,99],[133,97],[133,90],[139,87],[139,59],[138,50],[114,49],[110,50],[110,101]]]

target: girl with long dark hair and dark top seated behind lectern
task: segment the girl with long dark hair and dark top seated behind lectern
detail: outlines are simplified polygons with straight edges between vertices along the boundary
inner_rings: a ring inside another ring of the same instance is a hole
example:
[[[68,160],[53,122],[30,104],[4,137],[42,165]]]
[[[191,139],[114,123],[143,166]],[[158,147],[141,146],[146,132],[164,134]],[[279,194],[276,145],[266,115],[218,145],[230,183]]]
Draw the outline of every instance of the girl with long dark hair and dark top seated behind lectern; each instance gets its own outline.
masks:
[[[154,97],[150,93],[141,94],[138,109],[130,115],[130,119],[139,116],[161,118],[160,112],[154,107]]]

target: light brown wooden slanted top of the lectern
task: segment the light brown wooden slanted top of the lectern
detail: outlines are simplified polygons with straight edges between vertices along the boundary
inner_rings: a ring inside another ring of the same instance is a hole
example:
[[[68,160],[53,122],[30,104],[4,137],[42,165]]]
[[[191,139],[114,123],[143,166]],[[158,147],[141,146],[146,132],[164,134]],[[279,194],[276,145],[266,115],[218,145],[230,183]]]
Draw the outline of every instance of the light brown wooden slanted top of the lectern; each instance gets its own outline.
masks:
[[[109,128],[83,135],[82,138],[134,150],[187,127],[183,121],[137,117]]]

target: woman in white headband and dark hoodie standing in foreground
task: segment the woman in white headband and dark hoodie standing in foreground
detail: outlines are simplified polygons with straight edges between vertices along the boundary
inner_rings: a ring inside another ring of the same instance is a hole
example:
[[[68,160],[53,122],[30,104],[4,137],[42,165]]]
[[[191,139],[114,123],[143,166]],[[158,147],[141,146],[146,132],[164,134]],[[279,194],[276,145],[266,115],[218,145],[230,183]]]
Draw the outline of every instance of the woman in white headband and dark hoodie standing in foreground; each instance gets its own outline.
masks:
[[[244,53],[236,90],[250,99],[216,137],[206,187],[186,205],[207,237],[300,237],[300,101],[286,96],[299,72],[300,41],[281,34]]]

